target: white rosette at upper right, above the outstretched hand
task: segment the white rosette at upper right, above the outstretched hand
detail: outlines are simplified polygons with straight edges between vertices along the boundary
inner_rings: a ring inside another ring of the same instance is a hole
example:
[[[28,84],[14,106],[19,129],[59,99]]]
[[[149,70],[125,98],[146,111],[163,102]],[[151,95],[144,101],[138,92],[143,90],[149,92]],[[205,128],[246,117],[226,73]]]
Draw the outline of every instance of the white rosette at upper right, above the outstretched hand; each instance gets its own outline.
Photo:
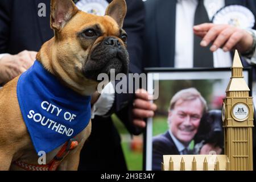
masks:
[[[255,18],[247,7],[241,5],[225,6],[213,16],[214,24],[230,24],[238,28],[253,28]]]

